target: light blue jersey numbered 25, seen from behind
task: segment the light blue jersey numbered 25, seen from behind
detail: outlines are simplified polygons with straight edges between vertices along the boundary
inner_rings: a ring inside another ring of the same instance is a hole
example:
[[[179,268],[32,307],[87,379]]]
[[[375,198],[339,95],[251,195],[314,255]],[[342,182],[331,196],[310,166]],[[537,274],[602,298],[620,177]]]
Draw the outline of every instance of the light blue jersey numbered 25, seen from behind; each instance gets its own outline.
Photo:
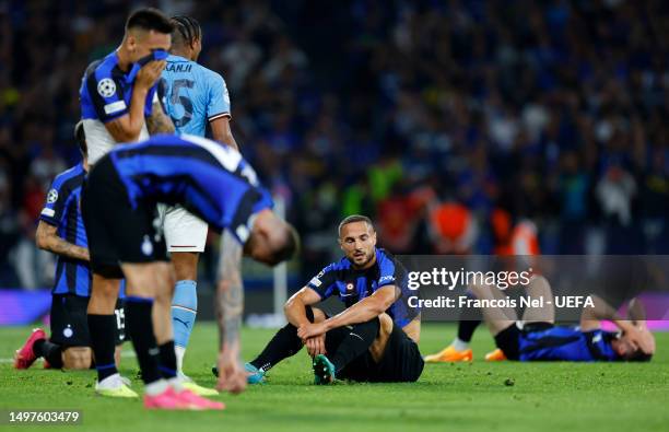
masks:
[[[163,70],[164,103],[178,133],[204,137],[207,122],[231,117],[230,94],[219,73],[169,55]]]

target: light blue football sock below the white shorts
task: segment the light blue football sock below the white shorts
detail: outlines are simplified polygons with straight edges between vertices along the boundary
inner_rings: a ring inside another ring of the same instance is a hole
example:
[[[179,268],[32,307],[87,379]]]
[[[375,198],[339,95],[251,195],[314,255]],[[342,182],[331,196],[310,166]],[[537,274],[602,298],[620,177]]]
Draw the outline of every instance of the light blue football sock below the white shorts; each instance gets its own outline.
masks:
[[[172,326],[174,343],[177,347],[177,371],[181,370],[188,339],[198,314],[198,283],[193,280],[180,280],[174,287],[172,299]]]

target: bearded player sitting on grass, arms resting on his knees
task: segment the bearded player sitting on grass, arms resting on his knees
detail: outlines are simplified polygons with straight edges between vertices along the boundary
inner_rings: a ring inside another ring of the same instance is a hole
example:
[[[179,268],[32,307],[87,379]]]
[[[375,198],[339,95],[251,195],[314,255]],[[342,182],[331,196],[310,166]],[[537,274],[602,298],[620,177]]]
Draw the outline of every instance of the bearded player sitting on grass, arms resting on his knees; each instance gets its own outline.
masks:
[[[376,247],[372,221],[345,218],[339,225],[344,257],[332,262],[285,304],[289,324],[246,363],[249,383],[303,346],[313,357],[316,384],[336,378],[359,382],[414,382],[423,371],[418,348],[420,311],[407,304],[407,271]],[[313,307],[337,295],[345,310],[332,317]]]

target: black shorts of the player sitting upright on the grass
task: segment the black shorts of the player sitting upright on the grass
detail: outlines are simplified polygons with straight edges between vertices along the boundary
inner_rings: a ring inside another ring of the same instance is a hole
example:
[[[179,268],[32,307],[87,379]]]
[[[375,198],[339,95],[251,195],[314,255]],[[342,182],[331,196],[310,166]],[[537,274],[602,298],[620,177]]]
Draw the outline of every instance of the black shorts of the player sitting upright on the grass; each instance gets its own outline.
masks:
[[[333,353],[348,334],[345,327],[328,331],[326,335],[328,353]],[[379,363],[376,363],[372,353],[367,351],[349,363],[337,377],[366,383],[413,383],[421,376],[424,364],[418,345],[394,324]]]

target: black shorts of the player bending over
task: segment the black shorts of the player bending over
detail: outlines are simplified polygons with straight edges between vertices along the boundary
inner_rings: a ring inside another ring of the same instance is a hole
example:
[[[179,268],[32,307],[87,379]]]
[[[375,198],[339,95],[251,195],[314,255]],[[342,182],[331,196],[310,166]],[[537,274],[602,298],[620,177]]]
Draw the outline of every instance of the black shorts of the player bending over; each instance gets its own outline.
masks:
[[[93,272],[120,279],[121,262],[167,260],[155,202],[140,201],[133,209],[110,157],[91,171],[81,207]]]

